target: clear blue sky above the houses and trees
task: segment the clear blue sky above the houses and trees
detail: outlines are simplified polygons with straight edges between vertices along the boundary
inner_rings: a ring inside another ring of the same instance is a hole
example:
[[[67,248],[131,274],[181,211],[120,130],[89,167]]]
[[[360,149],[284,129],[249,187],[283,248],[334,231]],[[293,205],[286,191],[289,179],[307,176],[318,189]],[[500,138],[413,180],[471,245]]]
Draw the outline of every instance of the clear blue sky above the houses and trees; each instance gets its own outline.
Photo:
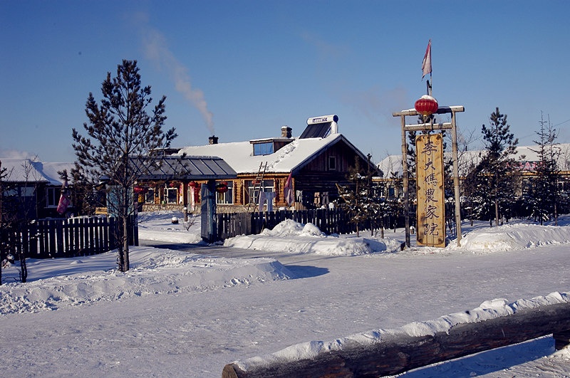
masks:
[[[166,100],[175,146],[298,136],[336,114],[339,131],[378,162],[400,151],[393,112],[425,94],[464,105],[480,138],[495,107],[520,145],[541,111],[570,142],[568,1],[0,0],[0,156],[71,162],[71,130],[123,58]],[[413,120],[415,122],[415,120]],[[472,144],[478,148],[480,141]]]

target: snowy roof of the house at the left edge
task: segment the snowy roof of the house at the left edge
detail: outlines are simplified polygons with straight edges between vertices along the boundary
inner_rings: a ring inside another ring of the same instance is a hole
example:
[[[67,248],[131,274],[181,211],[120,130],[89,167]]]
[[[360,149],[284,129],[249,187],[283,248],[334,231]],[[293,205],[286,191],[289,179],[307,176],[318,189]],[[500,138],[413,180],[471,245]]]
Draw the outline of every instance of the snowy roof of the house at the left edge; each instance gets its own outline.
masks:
[[[49,185],[61,185],[58,172],[67,169],[71,173],[73,163],[36,162],[31,159],[0,157],[2,169],[6,168],[6,182],[42,182]]]

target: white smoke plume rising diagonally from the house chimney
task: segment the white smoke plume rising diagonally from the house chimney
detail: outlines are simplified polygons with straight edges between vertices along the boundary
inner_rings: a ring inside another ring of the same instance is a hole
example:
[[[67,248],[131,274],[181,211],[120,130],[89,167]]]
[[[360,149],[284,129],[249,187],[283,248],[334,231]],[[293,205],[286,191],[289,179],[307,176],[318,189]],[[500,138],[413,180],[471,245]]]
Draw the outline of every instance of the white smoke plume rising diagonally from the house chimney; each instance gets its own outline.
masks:
[[[155,63],[164,67],[170,73],[176,90],[182,93],[199,110],[202,117],[204,117],[209,132],[214,135],[214,122],[212,120],[214,115],[208,110],[204,92],[197,88],[192,88],[187,68],[172,54],[162,33],[155,29],[147,30],[144,36],[144,46],[147,58],[155,61]]]

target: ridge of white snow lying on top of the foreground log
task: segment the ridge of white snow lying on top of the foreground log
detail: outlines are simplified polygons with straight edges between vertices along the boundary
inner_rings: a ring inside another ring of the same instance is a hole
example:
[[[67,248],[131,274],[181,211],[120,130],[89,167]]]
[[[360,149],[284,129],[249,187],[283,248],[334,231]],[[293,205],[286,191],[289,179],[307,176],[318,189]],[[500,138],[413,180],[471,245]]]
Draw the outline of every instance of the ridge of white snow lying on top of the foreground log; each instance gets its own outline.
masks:
[[[362,347],[370,347],[384,339],[390,340],[398,336],[433,336],[439,332],[449,332],[452,327],[460,324],[491,320],[497,317],[512,315],[523,309],[537,308],[539,306],[554,305],[557,303],[570,303],[570,294],[554,292],[530,300],[517,300],[514,303],[509,303],[505,299],[487,300],[473,310],[445,315],[436,320],[411,322],[403,327],[392,330],[370,330],[328,342],[302,342],[286,347],[284,350],[271,353],[270,355],[252,357],[233,363],[237,364],[237,367],[244,371],[275,366],[277,364],[288,364],[300,359],[315,359],[318,355],[341,351],[348,346],[355,347],[355,344]]]

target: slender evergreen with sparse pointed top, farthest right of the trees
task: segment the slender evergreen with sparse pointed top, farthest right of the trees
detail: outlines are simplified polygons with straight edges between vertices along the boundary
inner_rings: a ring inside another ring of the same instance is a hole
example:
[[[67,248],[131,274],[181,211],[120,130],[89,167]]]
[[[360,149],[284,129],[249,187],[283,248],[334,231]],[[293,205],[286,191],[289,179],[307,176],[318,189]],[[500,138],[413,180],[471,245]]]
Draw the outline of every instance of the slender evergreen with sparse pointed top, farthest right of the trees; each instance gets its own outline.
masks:
[[[550,123],[540,116],[540,129],[536,132],[538,140],[533,142],[537,144],[537,149],[531,149],[539,155],[537,166],[537,175],[531,179],[530,201],[532,215],[535,219],[539,219],[540,224],[554,217],[557,224],[558,214],[556,203],[559,198],[558,189],[558,158],[561,149],[556,143],[558,137],[556,129]]]

